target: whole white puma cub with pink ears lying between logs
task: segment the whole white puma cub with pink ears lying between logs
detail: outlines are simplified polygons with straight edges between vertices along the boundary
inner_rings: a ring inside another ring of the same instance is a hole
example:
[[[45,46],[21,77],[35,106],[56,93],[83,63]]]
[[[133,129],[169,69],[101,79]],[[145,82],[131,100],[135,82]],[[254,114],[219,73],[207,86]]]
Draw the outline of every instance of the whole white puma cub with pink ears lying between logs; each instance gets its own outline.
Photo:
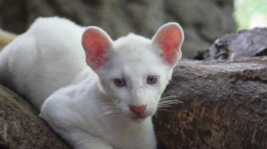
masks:
[[[75,149],[156,149],[152,115],[164,104],[183,38],[177,23],[151,40],[112,41],[98,27],[39,18],[0,53],[0,82]]]

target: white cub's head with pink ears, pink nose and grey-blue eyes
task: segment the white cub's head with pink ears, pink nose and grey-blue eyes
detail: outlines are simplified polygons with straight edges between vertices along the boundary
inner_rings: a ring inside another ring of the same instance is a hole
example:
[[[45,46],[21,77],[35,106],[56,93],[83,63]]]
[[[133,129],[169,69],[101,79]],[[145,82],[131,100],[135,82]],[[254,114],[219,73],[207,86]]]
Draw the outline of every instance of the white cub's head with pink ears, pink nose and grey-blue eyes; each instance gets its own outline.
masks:
[[[181,58],[183,30],[163,25],[152,40],[129,34],[116,41],[100,28],[88,27],[82,37],[86,63],[99,76],[101,91],[112,101],[102,115],[123,115],[134,121],[155,113],[172,70]]]

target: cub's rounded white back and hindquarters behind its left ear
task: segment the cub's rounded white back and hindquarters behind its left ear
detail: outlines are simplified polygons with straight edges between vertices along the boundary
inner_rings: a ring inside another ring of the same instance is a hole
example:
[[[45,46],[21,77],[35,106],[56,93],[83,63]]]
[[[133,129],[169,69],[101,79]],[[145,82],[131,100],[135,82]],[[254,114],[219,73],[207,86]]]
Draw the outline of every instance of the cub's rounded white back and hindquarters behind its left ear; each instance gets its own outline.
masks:
[[[84,29],[63,18],[38,18],[0,53],[0,77],[5,78],[0,83],[40,108],[87,66],[81,46]]]

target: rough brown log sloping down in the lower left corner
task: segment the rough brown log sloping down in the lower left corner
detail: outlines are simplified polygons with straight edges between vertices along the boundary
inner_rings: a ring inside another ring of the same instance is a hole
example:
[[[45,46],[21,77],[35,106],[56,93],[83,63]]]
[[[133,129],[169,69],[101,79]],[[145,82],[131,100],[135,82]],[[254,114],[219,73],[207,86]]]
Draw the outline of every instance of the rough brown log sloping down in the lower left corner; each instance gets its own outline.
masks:
[[[23,98],[0,85],[1,149],[70,149]]]

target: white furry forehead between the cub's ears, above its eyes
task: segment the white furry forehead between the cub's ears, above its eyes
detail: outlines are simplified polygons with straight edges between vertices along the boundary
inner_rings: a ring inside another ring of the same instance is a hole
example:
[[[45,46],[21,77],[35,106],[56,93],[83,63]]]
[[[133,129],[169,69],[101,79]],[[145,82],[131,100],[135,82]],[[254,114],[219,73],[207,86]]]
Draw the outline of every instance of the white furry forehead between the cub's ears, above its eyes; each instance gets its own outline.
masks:
[[[134,34],[116,40],[111,57],[112,70],[121,75],[153,74],[162,62],[151,41]]]

